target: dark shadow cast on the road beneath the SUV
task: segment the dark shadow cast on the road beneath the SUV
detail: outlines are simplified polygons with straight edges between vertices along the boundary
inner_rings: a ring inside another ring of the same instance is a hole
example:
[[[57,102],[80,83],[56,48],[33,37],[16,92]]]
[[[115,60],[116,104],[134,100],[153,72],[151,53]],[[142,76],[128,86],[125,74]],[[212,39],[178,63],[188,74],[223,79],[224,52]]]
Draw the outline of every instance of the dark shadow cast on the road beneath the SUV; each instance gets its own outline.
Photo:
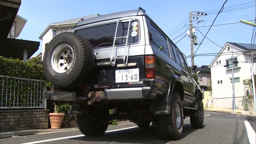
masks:
[[[197,129],[192,129],[190,124],[184,124],[182,139]],[[68,140],[81,140],[92,142],[117,142],[117,143],[168,143],[169,140],[163,140],[157,133],[156,126],[150,126],[148,129],[132,128],[116,132],[107,132],[101,137],[78,137]],[[69,143],[72,143],[70,141]]]

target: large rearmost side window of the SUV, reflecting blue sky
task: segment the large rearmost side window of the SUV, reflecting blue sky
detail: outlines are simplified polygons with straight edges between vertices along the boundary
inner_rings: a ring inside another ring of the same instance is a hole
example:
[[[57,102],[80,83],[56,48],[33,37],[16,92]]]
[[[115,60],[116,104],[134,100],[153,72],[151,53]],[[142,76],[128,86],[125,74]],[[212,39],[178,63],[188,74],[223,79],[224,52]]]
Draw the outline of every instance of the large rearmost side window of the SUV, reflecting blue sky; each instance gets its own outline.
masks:
[[[167,56],[169,55],[168,46],[164,35],[162,35],[151,23],[149,25],[149,41],[151,41],[158,49],[161,47],[161,51]]]

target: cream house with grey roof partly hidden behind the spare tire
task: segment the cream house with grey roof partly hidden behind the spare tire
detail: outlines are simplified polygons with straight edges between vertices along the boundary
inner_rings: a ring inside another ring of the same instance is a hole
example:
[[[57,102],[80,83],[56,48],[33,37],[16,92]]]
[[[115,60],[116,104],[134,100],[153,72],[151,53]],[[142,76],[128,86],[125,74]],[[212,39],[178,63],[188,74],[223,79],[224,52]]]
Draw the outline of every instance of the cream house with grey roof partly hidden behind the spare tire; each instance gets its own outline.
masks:
[[[45,44],[49,43],[54,36],[57,36],[58,34],[62,32],[69,32],[70,29],[76,25],[76,23],[80,20],[86,20],[92,17],[97,17],[99,14],[94,14],[90,16],[85,16],[81,18],[71,19],[71,20],[65,20],[60,22],[55,22],[49,24],[42,34],[38,37],[39,39],[43,40],[42,45],[42,56],[44,57],[44,50],[45,50]],[[42,57],[42,59],[43,59]]]

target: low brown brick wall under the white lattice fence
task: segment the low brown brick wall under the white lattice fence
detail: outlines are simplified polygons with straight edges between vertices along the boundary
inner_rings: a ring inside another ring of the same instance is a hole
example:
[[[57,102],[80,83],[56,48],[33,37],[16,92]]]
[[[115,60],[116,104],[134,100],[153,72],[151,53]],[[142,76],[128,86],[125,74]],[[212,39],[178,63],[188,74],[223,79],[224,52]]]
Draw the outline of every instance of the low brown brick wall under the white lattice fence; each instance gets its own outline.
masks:
[[[48,128],[49,110],[0,110],[0,131]]]

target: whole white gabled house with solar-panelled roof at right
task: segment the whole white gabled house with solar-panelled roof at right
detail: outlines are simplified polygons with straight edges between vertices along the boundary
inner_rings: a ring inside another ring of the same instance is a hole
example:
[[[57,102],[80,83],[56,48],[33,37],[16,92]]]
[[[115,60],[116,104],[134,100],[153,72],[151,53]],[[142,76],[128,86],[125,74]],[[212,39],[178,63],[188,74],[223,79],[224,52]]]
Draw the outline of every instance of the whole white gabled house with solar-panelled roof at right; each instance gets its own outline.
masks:
[[[242,100],[246,97],[243,80],[251,77],[251,67],[255,73],[255,44],[227,42],[210,64],[212,77],[212,99],[217,108],[233,108],[232,93],[232,68],[231,57],[233,53],[234,63],[234,92],[235,105],[243,109]],[[251,54],[253,56],[251,56]],[[253,57],[253,61],[252,61]],[[224,67],[227,65],[226,67]]]

